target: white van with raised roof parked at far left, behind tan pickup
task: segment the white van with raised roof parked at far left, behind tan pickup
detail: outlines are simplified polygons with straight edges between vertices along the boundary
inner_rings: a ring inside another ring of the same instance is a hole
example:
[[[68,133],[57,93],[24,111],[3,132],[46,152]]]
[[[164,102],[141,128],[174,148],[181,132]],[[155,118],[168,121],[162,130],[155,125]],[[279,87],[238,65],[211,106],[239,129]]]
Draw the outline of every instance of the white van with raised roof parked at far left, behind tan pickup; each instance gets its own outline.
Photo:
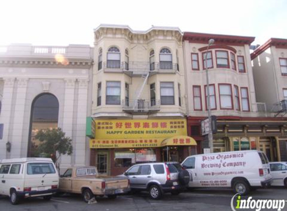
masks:
[[[0,194],[10,196],[12,204],[23,197],[50,200],[58,185],[59,174],[51,158],[0,160]]]

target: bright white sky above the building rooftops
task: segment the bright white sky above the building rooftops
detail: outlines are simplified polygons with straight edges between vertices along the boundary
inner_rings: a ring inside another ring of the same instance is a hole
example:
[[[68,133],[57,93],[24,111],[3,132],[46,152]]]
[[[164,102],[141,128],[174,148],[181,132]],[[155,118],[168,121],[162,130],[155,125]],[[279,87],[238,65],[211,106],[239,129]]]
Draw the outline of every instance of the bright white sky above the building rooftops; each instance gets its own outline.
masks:
[[[0,0],[0,45],[89,44],[101,23],[134,30],[287,38],[287,0]]]

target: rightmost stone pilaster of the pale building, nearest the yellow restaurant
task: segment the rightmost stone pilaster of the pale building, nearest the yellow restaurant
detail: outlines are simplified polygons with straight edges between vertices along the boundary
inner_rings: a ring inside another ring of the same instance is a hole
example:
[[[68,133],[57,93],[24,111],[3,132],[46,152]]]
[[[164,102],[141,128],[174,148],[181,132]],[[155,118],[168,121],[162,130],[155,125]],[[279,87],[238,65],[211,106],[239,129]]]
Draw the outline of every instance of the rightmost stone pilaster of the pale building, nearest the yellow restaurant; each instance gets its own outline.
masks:
[[[88,103],[88,83],[87,78],[78,79],[78,106],[77,106],[77,121],[76,121],[76,136],[73,156],[75,165],[85,165],[86,158],[86,117]],[[87,152],[88,153],[88,152]]]

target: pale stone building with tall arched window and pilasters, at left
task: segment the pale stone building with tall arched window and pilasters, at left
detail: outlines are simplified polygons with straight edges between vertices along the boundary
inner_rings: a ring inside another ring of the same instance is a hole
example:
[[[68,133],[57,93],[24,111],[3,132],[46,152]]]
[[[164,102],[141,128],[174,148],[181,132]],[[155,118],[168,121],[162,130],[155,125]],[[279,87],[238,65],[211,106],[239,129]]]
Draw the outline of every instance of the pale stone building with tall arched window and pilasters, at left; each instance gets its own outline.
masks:
[[[74,146],[72,156],[61,158],[61,166],[86,164],[93,49],[75,44],[0,49],[0,159],[33,155],[35,132],[61,127]]]

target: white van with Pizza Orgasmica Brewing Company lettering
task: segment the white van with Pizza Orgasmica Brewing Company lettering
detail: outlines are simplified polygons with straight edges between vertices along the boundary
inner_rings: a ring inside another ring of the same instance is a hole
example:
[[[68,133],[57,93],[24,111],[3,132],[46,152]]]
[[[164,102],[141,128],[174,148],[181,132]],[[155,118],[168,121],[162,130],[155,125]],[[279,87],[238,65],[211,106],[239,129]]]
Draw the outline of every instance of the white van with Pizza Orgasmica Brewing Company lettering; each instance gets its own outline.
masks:
[[[192,177],[188,187],[232,187],[244,195],[272,181],[268,159],[257,150],[192,155],[182,166]]]

